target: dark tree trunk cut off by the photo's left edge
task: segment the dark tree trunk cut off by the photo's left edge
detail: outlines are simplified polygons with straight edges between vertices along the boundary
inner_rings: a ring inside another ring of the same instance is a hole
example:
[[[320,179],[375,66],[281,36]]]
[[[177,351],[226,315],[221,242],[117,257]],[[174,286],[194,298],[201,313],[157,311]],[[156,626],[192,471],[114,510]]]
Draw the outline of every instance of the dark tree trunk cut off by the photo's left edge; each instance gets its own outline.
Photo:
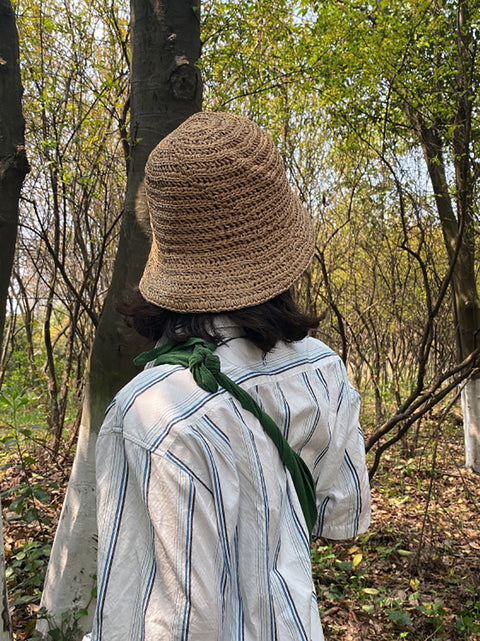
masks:
[[[8,286],[18,226],[18,201],[28,172],[22,115],[18,33],[10,0],[0,0],[0,350],[5,325]],[[12,638],[8,607],[0,505],[0,585],[2,589],[0,641]]]

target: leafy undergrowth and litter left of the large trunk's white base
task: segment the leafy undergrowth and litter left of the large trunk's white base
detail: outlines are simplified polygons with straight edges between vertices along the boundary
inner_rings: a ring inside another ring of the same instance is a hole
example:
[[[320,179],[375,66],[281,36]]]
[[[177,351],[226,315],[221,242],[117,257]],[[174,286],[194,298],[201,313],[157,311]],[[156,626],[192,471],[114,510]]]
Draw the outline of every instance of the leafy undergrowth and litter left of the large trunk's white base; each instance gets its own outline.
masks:
[[[52,473],[45,426],[30,424],[37,397],[25,389],[0,393],[0,497],[5,510],[6,578],[13,620],[32,632],[58,519],[55,499],[66,476]],[[37,410],[38,411],[38,410]],[[59,467],[60,461],[55,462]],[[33,609],[32,609],[33,608]],[[30,616],[26,613],[30,613]]]

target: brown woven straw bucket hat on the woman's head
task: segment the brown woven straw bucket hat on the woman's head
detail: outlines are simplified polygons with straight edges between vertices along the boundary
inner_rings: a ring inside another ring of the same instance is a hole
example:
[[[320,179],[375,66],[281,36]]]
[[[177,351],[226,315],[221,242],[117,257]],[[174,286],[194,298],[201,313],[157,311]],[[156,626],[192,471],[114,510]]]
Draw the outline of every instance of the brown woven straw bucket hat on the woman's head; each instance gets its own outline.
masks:
[[[223,312],[289,287],[314,252],[310,216],[272,140],[243,116],[197,113],[145,171],[152,247],[143,297],[176,312]]]

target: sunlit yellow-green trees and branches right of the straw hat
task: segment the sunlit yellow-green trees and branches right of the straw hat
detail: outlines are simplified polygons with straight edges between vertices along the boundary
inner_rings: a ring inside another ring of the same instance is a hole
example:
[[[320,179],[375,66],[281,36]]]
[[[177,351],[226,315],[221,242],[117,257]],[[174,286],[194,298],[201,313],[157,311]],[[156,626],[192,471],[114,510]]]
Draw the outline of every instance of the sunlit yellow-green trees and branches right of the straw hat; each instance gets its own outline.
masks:
[[[269,130],[317,222],[307,302],[324,314],[319,336],[374,404],[366,423],[367,445],[378,454],[373,472],[385,449],[475,365],[471,358],[457,370],[475,350],[480,319],[466,240],[475,225],[465,222],[474,207],[476,143],[470,120],[458,115],[469,69],[469,99],[477,99],[478,11],[470,7],[459,31],[450,8],[211,0],[204,11],[207,105],[250,115]],[[467,57],[462,34],[472,44]],[[436,135],[442,118],[435,160],[427,133]],[[469,164],[460,167],[465,154]],[[466,207],[457,198],[459,176],[470,189]],[[439,196],[441,180],[448,186]]]

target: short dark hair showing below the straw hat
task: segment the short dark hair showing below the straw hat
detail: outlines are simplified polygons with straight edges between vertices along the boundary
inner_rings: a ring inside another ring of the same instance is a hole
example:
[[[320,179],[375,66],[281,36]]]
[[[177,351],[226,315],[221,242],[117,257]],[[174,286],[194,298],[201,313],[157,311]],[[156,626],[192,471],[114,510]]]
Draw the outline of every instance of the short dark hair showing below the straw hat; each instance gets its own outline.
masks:
[[[129,327],[151,340],[164,337],[167,341],[183,343],[189,338],[221,343],[224,339],[214,319],[221,315],[231,319],[243,329],[245,338],[252,341],[264,353],[269,352],[278,341],[298,341],[318,325],[313,314],[300,311],[291,290],[287,290],[266,303],[245,307],[231,312],[180,313],[172,312],[146,301],[138,288],[130,296],[118,301],[116,310],[124,317]]]

